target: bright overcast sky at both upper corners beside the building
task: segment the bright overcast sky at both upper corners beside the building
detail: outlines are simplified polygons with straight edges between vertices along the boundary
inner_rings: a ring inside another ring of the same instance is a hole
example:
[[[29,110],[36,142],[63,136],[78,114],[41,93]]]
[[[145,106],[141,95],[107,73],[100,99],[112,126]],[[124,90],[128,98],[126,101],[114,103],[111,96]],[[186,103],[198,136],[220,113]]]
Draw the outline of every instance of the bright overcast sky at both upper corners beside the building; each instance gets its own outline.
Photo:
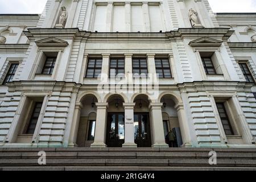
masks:
[[[41,14],[47,0],[0,0],[0,14]],[[256,0],[209,0],[214,12],[256,13]]]

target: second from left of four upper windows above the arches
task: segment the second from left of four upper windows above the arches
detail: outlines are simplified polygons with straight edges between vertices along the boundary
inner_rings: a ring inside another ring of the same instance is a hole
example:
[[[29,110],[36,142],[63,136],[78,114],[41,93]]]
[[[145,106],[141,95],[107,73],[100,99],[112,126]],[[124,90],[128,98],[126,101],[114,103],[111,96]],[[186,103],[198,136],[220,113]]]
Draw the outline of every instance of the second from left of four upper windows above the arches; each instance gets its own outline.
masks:
[[[123,58],[112,58],[110,59],[110,66],[109,66],[109,77],[115,78],[124,77],[125,75],[125,59]]]

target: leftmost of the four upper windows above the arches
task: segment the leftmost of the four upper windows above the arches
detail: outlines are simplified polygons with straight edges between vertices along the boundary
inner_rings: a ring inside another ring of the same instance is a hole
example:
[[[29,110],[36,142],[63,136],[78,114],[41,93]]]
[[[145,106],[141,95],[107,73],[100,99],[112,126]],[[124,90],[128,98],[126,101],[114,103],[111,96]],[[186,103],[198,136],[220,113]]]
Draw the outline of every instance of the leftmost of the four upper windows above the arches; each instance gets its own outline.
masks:
[[[89,58],[86,78],[97,78],[101,74],[102,59],[101,58]]]

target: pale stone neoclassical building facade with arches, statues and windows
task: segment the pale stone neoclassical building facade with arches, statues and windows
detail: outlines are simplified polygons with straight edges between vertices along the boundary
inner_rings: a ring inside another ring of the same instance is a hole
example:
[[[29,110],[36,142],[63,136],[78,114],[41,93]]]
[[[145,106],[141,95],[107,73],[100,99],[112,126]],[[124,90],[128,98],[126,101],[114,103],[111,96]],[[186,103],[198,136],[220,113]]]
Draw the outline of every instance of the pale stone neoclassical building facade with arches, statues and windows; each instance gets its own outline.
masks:
[[[2,14],[0,147],[256,147],[255,65],[256,14],[207,0]]]

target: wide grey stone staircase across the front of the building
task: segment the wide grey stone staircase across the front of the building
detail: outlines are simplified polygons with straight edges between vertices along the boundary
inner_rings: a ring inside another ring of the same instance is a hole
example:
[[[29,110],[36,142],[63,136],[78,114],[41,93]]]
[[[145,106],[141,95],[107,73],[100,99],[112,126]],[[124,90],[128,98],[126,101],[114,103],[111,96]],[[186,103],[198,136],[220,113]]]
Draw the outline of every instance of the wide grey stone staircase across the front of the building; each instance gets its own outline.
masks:
[[[217,152],[210,165],[209,151]],[[46,165],[38,152],[46,152]],[[256,170],[256,148],[0,148],[3,170]]]

